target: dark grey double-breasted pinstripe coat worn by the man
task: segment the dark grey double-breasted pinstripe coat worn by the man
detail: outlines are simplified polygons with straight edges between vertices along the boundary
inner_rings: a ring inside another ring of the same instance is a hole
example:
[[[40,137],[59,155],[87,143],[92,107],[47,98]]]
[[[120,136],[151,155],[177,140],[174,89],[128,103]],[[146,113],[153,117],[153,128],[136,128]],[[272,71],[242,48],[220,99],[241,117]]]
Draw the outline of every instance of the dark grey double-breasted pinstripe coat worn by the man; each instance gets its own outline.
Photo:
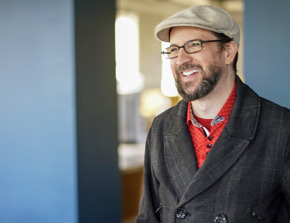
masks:
[[[290,110],[236,80],[229,120],[200,169],[187,102],[155,118],[137,223],[289,223]]]

